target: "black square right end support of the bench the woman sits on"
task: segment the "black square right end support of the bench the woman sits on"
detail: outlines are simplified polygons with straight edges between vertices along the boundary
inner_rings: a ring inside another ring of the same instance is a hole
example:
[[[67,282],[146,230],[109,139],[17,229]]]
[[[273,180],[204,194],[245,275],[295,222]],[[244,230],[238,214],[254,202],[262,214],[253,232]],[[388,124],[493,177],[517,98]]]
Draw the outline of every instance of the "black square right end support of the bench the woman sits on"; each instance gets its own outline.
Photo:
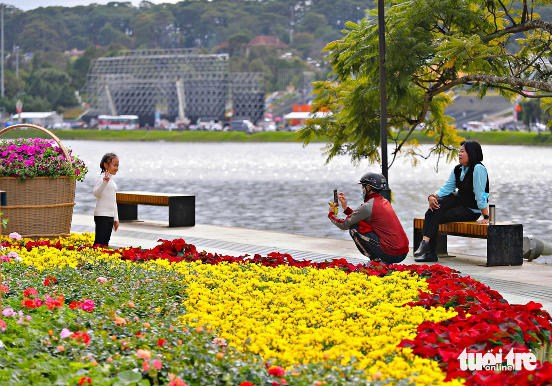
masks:
[[[489,225],[487,267],[523,264],[523,225]]]

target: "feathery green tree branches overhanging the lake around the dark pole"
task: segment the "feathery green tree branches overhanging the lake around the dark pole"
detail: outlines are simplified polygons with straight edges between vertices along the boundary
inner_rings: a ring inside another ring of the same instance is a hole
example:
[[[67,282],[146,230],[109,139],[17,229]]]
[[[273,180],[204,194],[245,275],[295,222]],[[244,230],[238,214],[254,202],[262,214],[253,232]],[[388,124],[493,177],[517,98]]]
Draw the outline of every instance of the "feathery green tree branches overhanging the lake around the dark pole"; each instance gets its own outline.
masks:
[[[549,4],[542,0],[538,5]],[[502,6],[505,5],[505,7]],[[394,0],[385,12],[388,96],[388,139],[395,143],[391,164],[399,154],[418,155],[411,133],[433,138],[429,153],[455,157],[460,137],[445,107],[453,103],[454,87],[468,87],[484,97],[495,89],[514,99],[526,92],[552,92],[552,72],[542,60],[550,55],[550,23],[534,22],[538,14],[519,9],[519,0],[456,1]],[[349,155],[353,161],[380,161],[379,51],[377,12],[359,23],[346,23],[342,39],[326,46],[332,72],[316,82],[312,111],[328,111],[311,119],[301,132],[327,140],[328,160]],[[523,38],[515,33],[523,32]],[[521,47],[507,52],[516,39]],[[404,135],[403,133],[406,133]],[[416,158],[413,158],[416,163]]]

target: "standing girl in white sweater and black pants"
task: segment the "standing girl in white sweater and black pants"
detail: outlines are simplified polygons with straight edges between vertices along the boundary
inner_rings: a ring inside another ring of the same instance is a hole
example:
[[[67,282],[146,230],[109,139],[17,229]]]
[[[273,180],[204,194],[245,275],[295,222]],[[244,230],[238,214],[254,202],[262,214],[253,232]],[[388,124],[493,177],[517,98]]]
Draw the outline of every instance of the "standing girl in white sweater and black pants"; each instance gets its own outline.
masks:
[[[94,197],[96,197],[96,208],[94,210],[96,237],[94,245],[107,247],[112,229],[116,232],[119,228],[117,185],[111,178],[119,170],[119,158],[113,153],[105,154],[102,161],[100,161],[100,168],[102,174],[98,175],[94,182]]]

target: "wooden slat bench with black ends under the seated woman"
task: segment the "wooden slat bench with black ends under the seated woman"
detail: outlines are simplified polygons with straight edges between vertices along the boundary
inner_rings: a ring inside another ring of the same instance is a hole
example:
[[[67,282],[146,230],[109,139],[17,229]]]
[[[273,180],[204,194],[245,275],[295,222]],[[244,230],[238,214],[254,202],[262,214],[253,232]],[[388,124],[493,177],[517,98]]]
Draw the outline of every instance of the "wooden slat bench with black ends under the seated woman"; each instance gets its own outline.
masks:
[[[414,219],[414,249],[422,241],[423,218]],[[496,225],[477,222],[449,222],[439,225],[437,255],[445,257],[447,236],[487,239],[487,267],[523,264],[523,225],[497,222]]]

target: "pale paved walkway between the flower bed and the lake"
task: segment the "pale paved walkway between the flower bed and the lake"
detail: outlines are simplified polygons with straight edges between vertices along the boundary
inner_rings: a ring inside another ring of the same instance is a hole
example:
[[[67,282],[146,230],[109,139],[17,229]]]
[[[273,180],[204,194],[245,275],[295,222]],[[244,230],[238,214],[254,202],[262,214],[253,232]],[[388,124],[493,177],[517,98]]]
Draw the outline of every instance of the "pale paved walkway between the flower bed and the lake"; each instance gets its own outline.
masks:
[[[94,232],[93,216],[73,215],[71,231]],[[121,223],[119,231],[112,234],[111,243],[120,247],[152,248],[158,244],[158,239],[175,238],[183,238],[187,243],[194,244],[199,251],[219,254],[266,255],[270,252],[282,252],[289,253],[298,260],[323,262],[326,259],[345,258],[353,264],[368,260],[358,252],[352,240],[214,225],[168,228],[167,223],[161,221]],[[415,264],[412,253],[411,248],[404,264]],[[485,267],[485,262],[485,257],[456,253],[456,257],[442,258],[438,264],[480,280],[498,291],[511,304],[535,301],[542,304],[546,311],[552,312],[552,266],[524,262],[516,267]]]

